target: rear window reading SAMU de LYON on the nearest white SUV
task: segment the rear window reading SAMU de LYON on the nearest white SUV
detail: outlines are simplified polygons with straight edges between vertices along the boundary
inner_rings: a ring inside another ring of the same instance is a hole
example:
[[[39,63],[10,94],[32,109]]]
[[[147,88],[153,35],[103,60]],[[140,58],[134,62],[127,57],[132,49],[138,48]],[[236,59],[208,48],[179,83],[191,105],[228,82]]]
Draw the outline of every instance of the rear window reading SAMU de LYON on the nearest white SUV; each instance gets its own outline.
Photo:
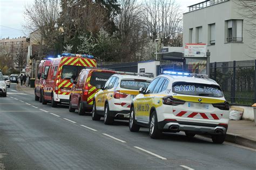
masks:
[[[172,91],[183,95],[223,97],[220,87],[214,84],[174,82]]]

